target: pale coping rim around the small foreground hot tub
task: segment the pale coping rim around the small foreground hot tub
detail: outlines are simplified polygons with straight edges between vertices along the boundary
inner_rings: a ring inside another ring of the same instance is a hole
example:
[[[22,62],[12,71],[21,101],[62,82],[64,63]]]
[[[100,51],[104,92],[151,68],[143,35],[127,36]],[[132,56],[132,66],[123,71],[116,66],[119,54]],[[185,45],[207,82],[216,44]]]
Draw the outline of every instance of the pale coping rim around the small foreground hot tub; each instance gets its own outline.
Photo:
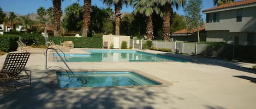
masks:
[[[73,69],[73,72],[134,72],[136,74],[142,75],[145,78],[148,78],[150,80],[153,80],[155,82],[159,82],[160,85],[141,85],[141,86],[110,86],[110,87],[122,87],[122,88],[141,88],[141,87],[168,87],[172,86],[173,84],[171,82],[168,82],[166,80],[157,78],[156,76],[144,73],[140,70],[135,69]],[[61,90],[78,90],[78,89],[90,89],[90,88],[106,88],[106,87],[72,87],[72,88],[61,88],[58,87],[58,80],[57,80],[57,72],[67,72],[66,70],[53,70],[53,72],[49,76],[49,80],[46,82],[46,87],[51,89],[61,89]],[[109,87],[108,87],[109,88]]]

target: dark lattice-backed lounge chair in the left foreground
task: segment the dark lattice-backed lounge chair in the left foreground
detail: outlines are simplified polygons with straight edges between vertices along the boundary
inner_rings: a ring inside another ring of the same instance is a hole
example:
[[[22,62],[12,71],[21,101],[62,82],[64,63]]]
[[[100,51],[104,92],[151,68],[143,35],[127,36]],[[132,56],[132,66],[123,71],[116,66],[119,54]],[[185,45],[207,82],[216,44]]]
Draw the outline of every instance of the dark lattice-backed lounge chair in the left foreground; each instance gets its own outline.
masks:
[[[25,69],[29,56],[30,53],[7,54],[0,72],[0,86],[3,88],[3,94],[7,89],[17,89],[26,85],[31,87],[31,70]]]

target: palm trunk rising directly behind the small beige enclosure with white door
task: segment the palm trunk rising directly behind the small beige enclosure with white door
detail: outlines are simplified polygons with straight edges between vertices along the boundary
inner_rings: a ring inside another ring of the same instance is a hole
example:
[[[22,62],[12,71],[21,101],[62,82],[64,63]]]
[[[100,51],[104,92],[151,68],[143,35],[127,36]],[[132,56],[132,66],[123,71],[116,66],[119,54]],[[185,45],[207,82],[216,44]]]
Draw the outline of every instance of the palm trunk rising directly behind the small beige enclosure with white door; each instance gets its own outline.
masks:
[[[121,3],[117,3],[115,4],[115,28],[116,28],[116,34],[115,35],[120,35],[120,17],[121,17],[121,7],[122,4]]]

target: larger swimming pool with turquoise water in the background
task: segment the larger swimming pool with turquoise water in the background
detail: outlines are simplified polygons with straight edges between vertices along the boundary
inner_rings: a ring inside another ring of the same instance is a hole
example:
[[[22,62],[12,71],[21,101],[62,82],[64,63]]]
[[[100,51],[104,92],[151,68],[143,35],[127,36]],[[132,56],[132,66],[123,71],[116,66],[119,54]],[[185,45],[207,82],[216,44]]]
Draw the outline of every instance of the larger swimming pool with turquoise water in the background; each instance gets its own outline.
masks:
[[[135,50],[92,50],[86,52],[91,54],[66,54],[67,62],[163,62],[163,61],[180,61],[186,60],[176,59],[174,57],[150,54]],[[53,54],[55,60],[58,59],[57,54]]]

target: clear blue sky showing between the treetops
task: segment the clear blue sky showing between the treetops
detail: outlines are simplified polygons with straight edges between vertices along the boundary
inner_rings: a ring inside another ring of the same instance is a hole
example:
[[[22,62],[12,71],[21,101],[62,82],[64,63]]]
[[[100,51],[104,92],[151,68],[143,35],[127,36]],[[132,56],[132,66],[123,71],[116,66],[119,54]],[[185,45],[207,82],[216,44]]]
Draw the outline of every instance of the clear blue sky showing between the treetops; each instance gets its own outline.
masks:
[[[62,2],[62,10],[64,10],[67,6],[78,2],[78,0],[64,0]],[[79,0],[79,4],[83,5],[84,1]],[[92,0],[92,5],[97,5],[99,8],[106,8],[108,7],[107,5],[103,4],[101,0]],[[21,14],[21,15],[27,15],[31,13],[36,13],[37,9],[39,7],[45,7],[46,9],[49,7],[52,7],[52,0],[0,0],[0,7],[3,9],[3,11],[13,11],[16,14]],[[203,9],[209,9],[212,8],[213,6],[213,0],[203,0]],[[112,7],[114,10],[114,8]],[[121,12],[132,12],[133,8],[132,7],[126,7],[125,5],[123,6]],[[174,9],[178,14],[184,15],[183,8],[181,7],[180,9],[176,10]],[[203,19],[205,20],[205,14],[201,13]]]

